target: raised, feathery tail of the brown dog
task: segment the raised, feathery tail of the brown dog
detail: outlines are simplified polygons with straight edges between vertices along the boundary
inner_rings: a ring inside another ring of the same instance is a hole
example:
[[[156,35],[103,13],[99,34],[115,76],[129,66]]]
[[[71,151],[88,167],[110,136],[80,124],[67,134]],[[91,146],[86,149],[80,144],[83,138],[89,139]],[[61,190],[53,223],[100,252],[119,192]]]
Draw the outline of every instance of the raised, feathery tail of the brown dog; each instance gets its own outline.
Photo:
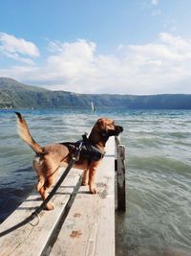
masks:
[[[33,151],[36,153],[42,153],[43,149],[32,139],[32,135],[24,117],[19,112],[15,112],[15,114],[17,116],[18,133],[21,139],[24,140],[32,148]]]

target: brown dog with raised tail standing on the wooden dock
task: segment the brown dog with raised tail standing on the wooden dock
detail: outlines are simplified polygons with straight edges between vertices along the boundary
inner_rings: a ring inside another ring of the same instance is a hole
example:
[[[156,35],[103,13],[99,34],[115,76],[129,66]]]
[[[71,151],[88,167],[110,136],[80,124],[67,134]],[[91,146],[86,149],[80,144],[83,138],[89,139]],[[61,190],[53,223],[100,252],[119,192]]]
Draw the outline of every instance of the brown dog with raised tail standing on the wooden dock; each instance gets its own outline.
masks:
[[[33,168],[38,177],[36,189],[41,198],[45,200],[54,184],[59,167],[68,166],[79,142],[54,143],[41,147],[32,138],[24,117],[19,112],[15,112],[15,114],[21,139],[35,152]],[[99,118],[92,128],[89,137],[84,139],[85,148],[89,149],[89,151],[85,152],[82,149],[79,159],[74,162],[74,168],[83,170],[82,185],[89,185],[89,190],[92,194],[96,194],[96,168],[104,155],[106,142],[110,136],[117,136],[122,131],[123,128],[117,126],[112,119]],[[53,203],[48,202],[46,209],[53,210]]]

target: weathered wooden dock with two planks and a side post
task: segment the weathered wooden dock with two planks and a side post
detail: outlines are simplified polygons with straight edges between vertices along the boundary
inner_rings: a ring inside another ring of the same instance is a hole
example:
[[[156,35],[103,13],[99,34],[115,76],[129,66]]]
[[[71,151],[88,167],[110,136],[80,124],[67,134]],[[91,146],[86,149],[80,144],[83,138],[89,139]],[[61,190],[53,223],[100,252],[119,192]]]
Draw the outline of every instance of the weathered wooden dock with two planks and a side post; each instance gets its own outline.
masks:
[[[89,194],[87,186],[80,186],[82,173],[72,169],[53,196],[54,210],[42,211],[34,220],[9,232],[42,203],[33,191],[0,225],[0,235],[8,230],[0,238],[0,255],[114,256],[115,167],[120,196],[117,207],[125,211],[124,163],[124,147],[112,137],[96,173],[96,195]],[[63,172],[60,170],[60,175]]]

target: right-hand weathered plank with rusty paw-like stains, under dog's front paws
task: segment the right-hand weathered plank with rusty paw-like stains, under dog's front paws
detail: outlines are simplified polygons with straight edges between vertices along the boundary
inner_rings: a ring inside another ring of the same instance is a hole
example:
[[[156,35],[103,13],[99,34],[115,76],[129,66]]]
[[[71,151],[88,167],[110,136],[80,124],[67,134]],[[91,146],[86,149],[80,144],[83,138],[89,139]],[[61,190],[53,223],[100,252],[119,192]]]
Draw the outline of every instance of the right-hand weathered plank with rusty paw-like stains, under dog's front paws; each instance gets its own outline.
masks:
[[[53,244],[51,256],[115,255],[114,144],[114,138],[110,139],[106,156],[97,169],[98,193],[91,195],[88,187],[80,188]]]

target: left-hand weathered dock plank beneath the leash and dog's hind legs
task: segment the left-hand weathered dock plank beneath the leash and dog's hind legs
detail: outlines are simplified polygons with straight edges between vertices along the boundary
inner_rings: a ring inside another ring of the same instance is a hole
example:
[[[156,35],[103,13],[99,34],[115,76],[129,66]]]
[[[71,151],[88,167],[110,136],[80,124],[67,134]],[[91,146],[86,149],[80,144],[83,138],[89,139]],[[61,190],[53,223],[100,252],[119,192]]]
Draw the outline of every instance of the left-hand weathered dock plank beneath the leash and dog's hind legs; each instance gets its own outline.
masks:
[[[67,175],[52,199],[55,205],[53,211],[42,211],[40,213],[39,222],[35,219],[32,221],[32,224],[28,223],[0,239],[1,256],[37,256],[41,254],[67,202],[74,192],[74,187],[80,178],[80,174],[81,171],[72,169],[69,175]],[[25,220],[41,202],[42,200],[39,199],[39,195],[33,192],[32,196],[27,198],[17,210],[0,225],[0,232]],[[36,225],[37,222],[38,224]]]

